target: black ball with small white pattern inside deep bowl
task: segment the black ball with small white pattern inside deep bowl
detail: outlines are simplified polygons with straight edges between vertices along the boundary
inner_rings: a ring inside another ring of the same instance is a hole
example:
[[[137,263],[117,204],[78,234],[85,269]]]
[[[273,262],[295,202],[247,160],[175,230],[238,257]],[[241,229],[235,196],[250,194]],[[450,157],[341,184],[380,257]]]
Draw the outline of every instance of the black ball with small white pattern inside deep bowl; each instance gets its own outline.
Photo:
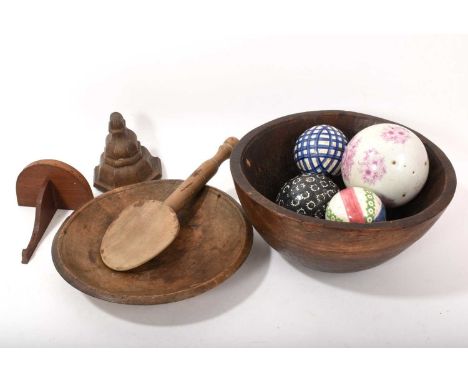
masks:
[[[339,191],[324,174],[302,174],[281,187],[276,203],[302,215],[323,219],[327,203]]]

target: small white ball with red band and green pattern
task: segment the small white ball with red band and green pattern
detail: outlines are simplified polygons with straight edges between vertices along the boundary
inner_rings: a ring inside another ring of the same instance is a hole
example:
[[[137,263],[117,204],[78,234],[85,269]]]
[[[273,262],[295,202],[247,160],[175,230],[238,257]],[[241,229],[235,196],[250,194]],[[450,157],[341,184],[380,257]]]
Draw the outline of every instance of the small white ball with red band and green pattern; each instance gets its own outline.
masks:
[[[341,190],[327,205],[325,219],[346,223],[385,221],[385,206],[380,198],[362,187]]]

